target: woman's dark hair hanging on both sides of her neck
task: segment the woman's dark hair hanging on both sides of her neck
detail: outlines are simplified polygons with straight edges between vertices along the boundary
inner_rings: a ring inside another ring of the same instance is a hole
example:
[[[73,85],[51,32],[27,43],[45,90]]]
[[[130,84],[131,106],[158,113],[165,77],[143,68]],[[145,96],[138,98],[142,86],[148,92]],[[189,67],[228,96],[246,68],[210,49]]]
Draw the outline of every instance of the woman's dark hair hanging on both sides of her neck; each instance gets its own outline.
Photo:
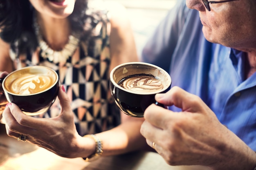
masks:
[[[76,0],[74,11],[68,17],[73,31],[83,31],[88,17],[85,13],[87,4],[88,0]],[[33,28],[33,11],[29,0],[0,0],[0,38],[11,44],[18,54],[28,49],[34,51],[38,46]]]

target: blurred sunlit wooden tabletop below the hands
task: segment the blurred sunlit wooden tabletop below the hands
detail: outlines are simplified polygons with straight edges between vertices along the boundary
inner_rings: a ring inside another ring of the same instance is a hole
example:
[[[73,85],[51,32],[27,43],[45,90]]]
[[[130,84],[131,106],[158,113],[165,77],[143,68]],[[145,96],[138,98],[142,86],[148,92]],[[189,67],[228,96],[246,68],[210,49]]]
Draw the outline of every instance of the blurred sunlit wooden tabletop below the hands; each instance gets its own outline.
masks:
[[[0,124],[0,170],[209,170],[202,166],[169,166],[153,152],[101,157],[93,162],[59,157],[29,142],[9,137]]]

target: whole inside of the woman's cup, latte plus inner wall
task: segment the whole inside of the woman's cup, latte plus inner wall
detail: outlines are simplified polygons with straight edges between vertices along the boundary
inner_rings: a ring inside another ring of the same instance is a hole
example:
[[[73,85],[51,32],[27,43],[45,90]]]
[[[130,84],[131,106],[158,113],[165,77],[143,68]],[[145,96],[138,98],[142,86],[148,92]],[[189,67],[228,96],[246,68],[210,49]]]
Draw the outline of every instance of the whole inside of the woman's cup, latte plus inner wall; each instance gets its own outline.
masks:
[[[4,85],[9,92],[14,94],[36,94],[51,87],[56,78],[56,74],[51,70],[39,72],[27,69],[12,74]]]

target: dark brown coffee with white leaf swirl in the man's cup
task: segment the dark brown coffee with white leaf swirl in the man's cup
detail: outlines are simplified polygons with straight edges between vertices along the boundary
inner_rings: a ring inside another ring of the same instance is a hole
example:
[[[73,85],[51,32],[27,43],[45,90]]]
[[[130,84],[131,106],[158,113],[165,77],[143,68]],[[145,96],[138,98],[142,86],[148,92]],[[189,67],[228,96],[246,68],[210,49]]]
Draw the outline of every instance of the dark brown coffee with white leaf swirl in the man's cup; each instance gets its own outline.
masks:
[[[164,88],[161,81],[152,74],[134,74],[123,78],[117,83],[131,92],[147,94],[148,92],[159,92]]]

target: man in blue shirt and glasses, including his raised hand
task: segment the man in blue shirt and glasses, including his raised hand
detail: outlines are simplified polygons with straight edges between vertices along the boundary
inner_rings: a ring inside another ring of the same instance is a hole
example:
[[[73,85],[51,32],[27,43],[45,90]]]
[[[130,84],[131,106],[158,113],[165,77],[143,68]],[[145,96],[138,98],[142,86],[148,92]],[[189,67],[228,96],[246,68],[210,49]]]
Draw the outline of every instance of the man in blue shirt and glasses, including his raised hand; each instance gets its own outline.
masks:
[[[255,5],[179,1],[146,44],[143,61],[169,71],[172,88],[155,97],[169,110],[146,109],[141,134],[167,163],[256,166]]]

